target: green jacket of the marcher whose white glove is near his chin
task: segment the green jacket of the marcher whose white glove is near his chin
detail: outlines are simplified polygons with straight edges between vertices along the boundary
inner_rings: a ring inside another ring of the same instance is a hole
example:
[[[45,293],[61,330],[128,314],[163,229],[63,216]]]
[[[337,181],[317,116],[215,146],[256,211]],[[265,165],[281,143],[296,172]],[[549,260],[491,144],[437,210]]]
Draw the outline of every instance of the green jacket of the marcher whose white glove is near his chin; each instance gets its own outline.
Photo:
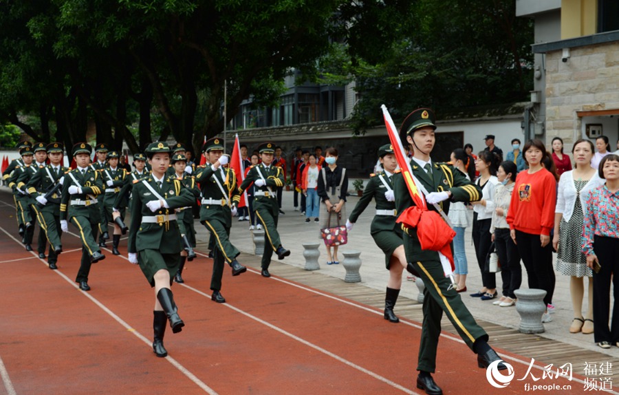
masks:
[[[220,200],[222,204],[202,204],[200,207],[200,222],[218,220],[230,228],[232,226],[232,213],[230,213],[230,207],[226,203],[226,197],[230,204],[238,204],[240,200],[239,191],[237,189],[237,175],[233,169],[224,168],[224,173],[221,173],[221,167],[213,171],[210,164],[206,166],[198,167],[195,173],[195,181],[200,185],[200,191],[202,191],[203,199]],[[224,193],[221,193],[221,189],[217,185],[217,181],[221,184]],[[228,182],[226,182],[228,180]]]

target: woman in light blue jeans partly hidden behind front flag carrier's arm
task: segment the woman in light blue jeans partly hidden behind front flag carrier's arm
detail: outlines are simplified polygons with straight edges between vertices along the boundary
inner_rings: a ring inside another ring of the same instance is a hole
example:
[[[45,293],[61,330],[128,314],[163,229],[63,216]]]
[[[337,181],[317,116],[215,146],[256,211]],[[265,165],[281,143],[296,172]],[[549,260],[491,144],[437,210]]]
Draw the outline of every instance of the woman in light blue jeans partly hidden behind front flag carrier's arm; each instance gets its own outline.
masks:
[[[470,181],[465,167],[468,158],[464,149],[461,148],[454,149],[451,153],[453,167],[458,169]],[[468,275],[468,262],[466,261],[466,251],[464,250],[464,232],[470,225],[468,209],[463,202],[453,202],[449,206],[448,217],[456,233],[453,238],[453,264],[455,266],[453,274],[458,284],[458,292],[464,292],[466,291],[466,275]]]

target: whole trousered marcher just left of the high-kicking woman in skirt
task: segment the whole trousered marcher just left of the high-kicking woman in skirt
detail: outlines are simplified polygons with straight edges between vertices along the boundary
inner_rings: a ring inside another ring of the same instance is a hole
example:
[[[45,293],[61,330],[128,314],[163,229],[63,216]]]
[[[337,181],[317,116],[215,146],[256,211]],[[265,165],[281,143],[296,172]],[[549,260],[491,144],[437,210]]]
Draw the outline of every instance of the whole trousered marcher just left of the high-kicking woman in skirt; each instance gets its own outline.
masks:
[[[97,231],[101,222],[101,203],[97,196],[103,192],[103,182],[99,171],[88,164],[91,153],[92,147],[85,142],[73,146],[76,169],[65,174],[61,198],[61,228],[63,232],[68,232],[68,222],[71,222],[76,226],[82,241],[82,260],[75,281],[83,291],[90,290],[88,275],[91,264],[105,259],[97,245]]]

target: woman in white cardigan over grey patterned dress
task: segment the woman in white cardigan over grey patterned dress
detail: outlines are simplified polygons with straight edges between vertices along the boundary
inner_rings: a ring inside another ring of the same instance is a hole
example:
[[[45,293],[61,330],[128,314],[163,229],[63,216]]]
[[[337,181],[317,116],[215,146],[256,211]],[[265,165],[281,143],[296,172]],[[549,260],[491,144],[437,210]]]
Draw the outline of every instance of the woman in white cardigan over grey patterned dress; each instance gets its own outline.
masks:
[[[587,268],[587,258],[580,251],[583,235],[585,202],[591,189],[604,183],[596,169],[591,167],[594,145],[591,141],[580,139],[574,144],[572,155],[576,167],[561,175],[557,189],[557,202],[554,214],[554,237],[552,246],[557,251],[556,270],[570,276],[569,293],[572,295],[574,320],[569,332],[590,334],[594,332],[593,321],[593,279],[591,269]],[[587,314],[583,315],[585,286],[583,279],[589,278]],[[586,318],[585,318],[586,317]]]

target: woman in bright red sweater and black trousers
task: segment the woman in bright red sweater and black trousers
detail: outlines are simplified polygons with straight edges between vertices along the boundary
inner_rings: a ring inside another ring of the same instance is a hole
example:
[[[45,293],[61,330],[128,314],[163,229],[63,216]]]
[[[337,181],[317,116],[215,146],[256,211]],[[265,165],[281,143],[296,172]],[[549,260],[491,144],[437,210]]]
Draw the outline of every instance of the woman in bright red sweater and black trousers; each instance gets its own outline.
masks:
[[[530,140],[523,152],[529,169],[517,175],[506,220],[527,270],[529,288],[545,290],[547,306],[552,303],[555,284],[550,231],[554,227],[556,180],[543,167],[546,155],[543,142]],[[552,321],[547,311],[542,321]]]

